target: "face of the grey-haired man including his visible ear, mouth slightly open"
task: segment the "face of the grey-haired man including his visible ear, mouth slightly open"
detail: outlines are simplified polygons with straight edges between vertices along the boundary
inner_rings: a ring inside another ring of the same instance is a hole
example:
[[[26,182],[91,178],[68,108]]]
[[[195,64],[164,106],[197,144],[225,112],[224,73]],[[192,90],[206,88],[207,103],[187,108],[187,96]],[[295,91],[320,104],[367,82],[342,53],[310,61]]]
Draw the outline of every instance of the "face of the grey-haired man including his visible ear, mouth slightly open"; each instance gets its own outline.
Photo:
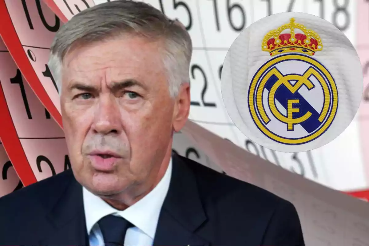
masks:
[[[125,35],[76,48],[64,59],[69,157],[77,181],[95,194],[144,192],[170,155],[173,129],[186,121],[189,90],[181,100],[170,97],[161,44]]]

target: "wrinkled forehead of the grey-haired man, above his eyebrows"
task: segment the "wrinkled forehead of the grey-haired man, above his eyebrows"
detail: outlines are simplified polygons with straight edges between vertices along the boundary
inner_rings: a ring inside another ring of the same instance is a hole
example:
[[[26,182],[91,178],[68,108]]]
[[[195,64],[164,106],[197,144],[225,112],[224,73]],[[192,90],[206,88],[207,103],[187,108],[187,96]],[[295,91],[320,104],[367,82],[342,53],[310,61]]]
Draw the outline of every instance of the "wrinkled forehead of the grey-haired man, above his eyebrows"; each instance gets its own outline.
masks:
[[[64,57],[63,83],[71,80],[97,83],[106,80],[148,80],[164,76],[163,41],[125,35],[79,44]]]

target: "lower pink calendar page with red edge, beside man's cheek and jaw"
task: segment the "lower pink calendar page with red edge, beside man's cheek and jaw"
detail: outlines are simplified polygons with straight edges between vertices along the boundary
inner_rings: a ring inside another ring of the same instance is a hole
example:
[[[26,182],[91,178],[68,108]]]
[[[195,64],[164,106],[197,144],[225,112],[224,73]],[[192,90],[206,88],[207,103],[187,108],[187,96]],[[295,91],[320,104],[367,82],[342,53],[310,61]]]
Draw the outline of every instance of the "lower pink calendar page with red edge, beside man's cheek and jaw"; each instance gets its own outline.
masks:
[[[0,138],[18,176],[28,185],[68,169],[63,130],[33,93],[1,41],[0,65]],[[3,176],[9,172],[10,179],[10,171],[5,172],[9,165],[4,164]]]

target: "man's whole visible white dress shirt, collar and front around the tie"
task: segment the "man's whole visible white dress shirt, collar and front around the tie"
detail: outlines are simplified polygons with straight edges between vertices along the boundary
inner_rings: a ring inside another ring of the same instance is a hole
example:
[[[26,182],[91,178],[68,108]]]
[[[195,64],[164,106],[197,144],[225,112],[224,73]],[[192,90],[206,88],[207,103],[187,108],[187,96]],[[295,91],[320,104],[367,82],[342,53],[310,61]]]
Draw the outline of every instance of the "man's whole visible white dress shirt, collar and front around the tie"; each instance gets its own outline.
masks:
[[[128,228],[124,245],[151,246],[154,242],[161,207],[168,193],[171,175],[172,159],[170,159],[168,169],[158,185],[141,200],[123,211],[111,207],[100,197],[83,187],[83,204],[90,246],[104,246],[103,235],[97,222],[109,214],[121,216],[135,226]]]

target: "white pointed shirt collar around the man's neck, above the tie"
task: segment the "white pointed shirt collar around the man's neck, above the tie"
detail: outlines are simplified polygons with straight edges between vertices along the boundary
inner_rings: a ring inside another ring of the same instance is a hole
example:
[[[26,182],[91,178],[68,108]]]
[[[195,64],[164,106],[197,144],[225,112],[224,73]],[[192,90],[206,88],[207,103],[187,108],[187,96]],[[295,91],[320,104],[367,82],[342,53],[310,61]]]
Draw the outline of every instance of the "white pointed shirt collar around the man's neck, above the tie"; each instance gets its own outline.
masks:
[[[101,218],[109,214],[115,214],[127,219],[149,237],[154,239],[159,214],[166,194],[168,193],[171,176],[172,159],[170,159],[168,169],[158,185],[145,195],[145,197],[141,198],[141,200],[124,211],[119,211],[111,207],[100,197],[92,194],[83,187],[83,205],[85,207],[87,233],[90,234],[92,227]]]

